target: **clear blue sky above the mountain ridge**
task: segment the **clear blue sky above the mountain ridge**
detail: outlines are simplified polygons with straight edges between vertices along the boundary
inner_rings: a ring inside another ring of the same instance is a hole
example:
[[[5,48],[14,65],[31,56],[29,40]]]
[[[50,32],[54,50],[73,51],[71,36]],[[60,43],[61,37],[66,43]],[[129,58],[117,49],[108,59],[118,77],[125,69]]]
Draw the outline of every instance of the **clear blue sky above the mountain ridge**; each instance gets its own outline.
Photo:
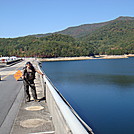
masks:
[[[0,0],[0,38],[134,17],[134,0]]]

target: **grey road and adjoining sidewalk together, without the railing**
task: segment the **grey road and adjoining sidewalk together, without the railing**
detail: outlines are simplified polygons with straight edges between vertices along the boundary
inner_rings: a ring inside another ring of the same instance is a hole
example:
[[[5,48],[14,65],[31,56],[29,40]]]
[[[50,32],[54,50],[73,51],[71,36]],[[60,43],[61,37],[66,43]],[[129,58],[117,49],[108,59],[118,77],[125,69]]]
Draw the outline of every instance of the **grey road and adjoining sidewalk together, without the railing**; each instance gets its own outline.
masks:
[[[27,60],[12,67],[0,68],[2,75],[2,81],[0,81],[0,134],[54,134],[52,117],[44,100],[44,90],[37,73],[35,84],[40,102],[25,103],[21,99],[23,98],[23,82],[16,81],[13,74],[17,70],[22,70],[25,62]],[[33,61],[33,63],[36,62]]]

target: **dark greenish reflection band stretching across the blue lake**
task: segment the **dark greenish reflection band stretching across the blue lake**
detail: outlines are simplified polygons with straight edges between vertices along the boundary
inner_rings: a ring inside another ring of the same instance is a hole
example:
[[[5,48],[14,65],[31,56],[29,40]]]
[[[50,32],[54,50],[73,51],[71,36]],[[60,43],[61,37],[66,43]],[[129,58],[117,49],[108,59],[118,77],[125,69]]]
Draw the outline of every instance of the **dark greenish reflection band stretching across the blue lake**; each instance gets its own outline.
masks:
[[[61,74],[60,74],[61,75]],[[134,76],[125,76],[125,75],[97,75],[97,74],[63,74],[59,77],[59,74],[56,75],[57,78],[52,78],[54,82],[56,83],[79,83],[79,84],[110,84],[110,85],[116,85],[120,86],[120,88],[123,88],[125,86],[131,87],[134,84]]]

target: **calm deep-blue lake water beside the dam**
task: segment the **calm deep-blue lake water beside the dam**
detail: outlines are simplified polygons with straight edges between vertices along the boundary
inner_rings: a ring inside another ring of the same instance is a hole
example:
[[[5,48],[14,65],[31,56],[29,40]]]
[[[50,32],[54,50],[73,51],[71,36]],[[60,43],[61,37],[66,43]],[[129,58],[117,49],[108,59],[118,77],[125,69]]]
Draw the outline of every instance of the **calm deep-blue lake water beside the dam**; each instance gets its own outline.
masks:
[[[43,62],[95,134],[134,134],[134,58]]]

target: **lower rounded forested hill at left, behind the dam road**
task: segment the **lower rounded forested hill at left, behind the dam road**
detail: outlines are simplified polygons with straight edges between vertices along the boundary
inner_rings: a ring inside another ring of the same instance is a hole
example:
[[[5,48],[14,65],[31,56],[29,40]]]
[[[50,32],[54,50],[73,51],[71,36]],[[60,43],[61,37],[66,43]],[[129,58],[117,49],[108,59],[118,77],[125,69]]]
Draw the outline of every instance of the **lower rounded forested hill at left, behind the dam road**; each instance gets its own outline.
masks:
[[[0,55],[58,57],[80,56],[83,53],[73,37],[52,34],[46,37],[27,36],[0,39]]]

